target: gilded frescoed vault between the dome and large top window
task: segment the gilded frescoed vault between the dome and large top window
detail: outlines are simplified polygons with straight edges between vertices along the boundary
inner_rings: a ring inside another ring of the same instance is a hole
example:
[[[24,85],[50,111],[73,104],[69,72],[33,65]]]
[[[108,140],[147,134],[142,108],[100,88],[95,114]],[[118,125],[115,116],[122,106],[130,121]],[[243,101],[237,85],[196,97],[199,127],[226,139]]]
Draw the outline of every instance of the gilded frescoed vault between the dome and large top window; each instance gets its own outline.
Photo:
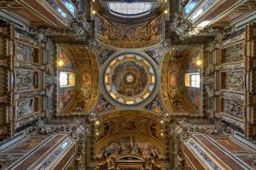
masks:
[[[162,17],[137,25],[120,25],[96,16],[98,41],[119,48],[152,46],[160,42],[163,29]]]

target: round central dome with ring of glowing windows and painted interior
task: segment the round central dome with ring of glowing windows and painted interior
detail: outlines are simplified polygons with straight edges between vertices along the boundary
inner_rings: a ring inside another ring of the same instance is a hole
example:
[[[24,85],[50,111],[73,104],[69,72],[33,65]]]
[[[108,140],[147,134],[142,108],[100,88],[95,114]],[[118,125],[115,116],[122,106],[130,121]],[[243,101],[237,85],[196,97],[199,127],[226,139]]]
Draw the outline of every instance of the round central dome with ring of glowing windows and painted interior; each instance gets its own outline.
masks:
[[[153,66],[140,54],[119,54],[104,71],[104,86],[119,104],[137,105],[152,94],[156,78]]]

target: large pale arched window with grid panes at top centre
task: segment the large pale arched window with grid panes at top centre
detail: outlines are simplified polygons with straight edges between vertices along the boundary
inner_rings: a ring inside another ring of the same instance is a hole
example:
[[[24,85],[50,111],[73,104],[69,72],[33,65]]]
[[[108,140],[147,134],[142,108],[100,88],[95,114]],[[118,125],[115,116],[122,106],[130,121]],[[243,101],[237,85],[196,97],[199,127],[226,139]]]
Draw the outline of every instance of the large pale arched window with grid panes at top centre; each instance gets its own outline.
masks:
[[[148,14],[152,7],[152,3],[141,2],[141,3],[114,3],[108,2],[108,8],[112,14],[117,14],[126,17],[137,17],[144,14]]]

